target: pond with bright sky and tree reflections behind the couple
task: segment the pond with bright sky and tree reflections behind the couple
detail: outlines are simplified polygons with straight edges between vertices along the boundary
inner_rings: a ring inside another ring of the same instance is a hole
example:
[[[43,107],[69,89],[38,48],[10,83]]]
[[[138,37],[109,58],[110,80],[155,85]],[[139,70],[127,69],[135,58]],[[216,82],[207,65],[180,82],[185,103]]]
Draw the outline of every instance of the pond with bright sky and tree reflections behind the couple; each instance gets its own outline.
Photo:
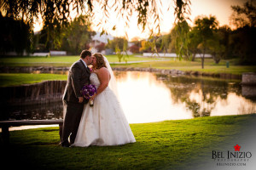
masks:
[[[139,71],[114,73],[129,123],[256,113],[255,96],[242,95],[237,80],[174,77]],[[62,118],[61,102],[5,107],[4,110],[1,120]]]

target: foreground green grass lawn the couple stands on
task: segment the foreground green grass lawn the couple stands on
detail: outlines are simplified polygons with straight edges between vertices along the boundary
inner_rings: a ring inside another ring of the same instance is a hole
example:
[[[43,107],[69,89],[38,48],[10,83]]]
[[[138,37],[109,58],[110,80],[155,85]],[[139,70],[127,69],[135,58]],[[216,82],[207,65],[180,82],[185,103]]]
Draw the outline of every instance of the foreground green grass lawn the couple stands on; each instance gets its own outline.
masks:
[[[58,127],[13,131],[10,144],[1,144],[2,167],[198,169],[216,165],[212,150],[234,151],[242,134],[255,129],[255,121],[253,114],[131,124],[136,143],[88,148],[59,146]]]

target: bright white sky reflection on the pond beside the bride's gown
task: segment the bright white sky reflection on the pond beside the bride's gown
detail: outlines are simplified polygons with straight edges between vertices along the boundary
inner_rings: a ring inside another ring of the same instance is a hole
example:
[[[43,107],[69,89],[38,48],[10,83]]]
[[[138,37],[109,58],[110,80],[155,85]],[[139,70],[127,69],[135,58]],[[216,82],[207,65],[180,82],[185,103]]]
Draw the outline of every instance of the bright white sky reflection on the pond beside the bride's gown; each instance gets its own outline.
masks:
[[[158,122],[192,118],[183,104],[173,105],[166,83],[148,72],[122,72],[119,96],[128,122]]]

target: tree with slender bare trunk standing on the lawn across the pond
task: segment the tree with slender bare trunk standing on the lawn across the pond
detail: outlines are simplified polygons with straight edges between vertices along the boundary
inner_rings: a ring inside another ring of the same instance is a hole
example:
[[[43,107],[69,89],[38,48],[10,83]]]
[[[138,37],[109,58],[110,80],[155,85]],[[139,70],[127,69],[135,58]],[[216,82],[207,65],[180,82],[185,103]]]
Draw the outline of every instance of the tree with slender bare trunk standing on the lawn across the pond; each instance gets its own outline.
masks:
[[[218,21],[215,16],[208,17],[198,17],[195,20],[195,30],[198,33],[200,39],[200,44],[198,49],[200,49],[201,54],[201,68],[204,68],[205,54],[207,52],[207,41],[213,37],[213,31],[217,29]]]

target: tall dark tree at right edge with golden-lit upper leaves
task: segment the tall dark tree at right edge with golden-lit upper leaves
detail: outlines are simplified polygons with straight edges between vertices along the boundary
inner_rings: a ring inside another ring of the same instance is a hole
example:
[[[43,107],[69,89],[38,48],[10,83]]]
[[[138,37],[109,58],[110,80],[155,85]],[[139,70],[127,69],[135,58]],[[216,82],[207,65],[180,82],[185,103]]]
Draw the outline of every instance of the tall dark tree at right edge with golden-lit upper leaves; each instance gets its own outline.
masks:
[[[243,7],[232,6],[231,23],[236,30],[230,32],[230,54],[239,58],[241,65],[256,65],[256,7],[253,3],[244,3]]]

